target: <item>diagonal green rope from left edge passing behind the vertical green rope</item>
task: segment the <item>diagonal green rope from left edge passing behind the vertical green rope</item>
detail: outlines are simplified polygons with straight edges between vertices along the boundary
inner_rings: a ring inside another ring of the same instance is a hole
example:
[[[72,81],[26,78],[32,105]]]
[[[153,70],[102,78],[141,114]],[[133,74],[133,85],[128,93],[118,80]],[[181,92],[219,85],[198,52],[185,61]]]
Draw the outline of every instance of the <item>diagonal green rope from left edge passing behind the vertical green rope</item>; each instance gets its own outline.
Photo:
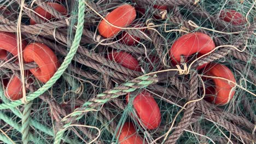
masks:
[[[9,116],[4,113],[0,113],[0,119],[2,119],[5,123],[8,123],[11,127],[15,128],[21,133],[21,125],[14,122]],[[34,137],[31,133],[28,133],[28,139],[33,141],[34,143],[45,143],[37,137]]]

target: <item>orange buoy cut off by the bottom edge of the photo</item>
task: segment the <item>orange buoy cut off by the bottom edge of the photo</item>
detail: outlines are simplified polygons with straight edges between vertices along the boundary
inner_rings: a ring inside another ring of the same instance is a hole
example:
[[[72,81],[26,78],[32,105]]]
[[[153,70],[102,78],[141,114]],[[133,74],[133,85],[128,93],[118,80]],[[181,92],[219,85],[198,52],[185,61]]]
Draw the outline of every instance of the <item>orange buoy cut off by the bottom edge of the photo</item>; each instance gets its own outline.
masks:
[[[141,137],[137,134],[134,126],[130,122],[124,123],[121,130],[119,129],[119,138],[118,141],[120,144],[143,144],[143,140]]]

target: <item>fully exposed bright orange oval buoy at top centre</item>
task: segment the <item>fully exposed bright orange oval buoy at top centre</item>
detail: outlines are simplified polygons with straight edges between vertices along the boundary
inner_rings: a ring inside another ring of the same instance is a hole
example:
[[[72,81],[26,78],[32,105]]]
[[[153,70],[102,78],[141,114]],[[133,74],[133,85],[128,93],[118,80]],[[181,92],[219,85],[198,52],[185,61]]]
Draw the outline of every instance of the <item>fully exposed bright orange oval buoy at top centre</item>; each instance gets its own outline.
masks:
[[[114,26],[126,27],[135,20],[135,17],[135,9],[129,4],[124,4],[111,11],[105,19]],[[109,25],[105,20],[102,20],[98,25],[98,32],[100,32],[100,34],[105,38],[113,37],[120,31],[120,28]]]

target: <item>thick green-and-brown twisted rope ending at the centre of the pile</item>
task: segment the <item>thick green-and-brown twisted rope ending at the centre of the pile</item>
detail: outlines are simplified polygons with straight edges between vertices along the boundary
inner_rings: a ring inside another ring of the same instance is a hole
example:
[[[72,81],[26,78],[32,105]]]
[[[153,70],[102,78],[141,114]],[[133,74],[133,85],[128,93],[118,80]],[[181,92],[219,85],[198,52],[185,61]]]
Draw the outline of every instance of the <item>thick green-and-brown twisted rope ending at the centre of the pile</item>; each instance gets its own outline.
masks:
[[[115,87],[108,91],[105,91],[101,94],[97,94],[95,98],[86,101],[82,107],[75,109],[75,111],[70,115],[70,117],[65,117],[62,119],[63,128],[57,132],[55,136],[55,144],[59,144],[61,141],[61,137],[63,136],[65,130],[74,122],[78,121],[80,118],[83,117],[84,111],[91,111],[94,110],[95,107],[101,106],[107,103],[109,100],[119,97],[120,95],[124,95],[130,92],[135,91],[138,88],[147,87],[152,85],[153,83],[158,82],[158,77],[154,76],[141,76],[137,79],[133,79],[129,82],[124,83],[119,87]]]

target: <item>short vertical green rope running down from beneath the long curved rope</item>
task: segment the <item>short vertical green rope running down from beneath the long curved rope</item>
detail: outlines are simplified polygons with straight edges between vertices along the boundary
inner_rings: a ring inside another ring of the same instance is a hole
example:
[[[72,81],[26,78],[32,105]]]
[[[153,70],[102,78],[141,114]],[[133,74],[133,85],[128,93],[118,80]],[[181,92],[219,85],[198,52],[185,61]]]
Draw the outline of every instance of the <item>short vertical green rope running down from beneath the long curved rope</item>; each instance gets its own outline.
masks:
[[[25,109],[23,111],[22,117],[22,127],[21,127],[21,134],[22,134],[22,142],[24,144],[28,144],[28,132],[30,130],[30,113],[32,108],[32,101],[29,101],[25,104]]]

